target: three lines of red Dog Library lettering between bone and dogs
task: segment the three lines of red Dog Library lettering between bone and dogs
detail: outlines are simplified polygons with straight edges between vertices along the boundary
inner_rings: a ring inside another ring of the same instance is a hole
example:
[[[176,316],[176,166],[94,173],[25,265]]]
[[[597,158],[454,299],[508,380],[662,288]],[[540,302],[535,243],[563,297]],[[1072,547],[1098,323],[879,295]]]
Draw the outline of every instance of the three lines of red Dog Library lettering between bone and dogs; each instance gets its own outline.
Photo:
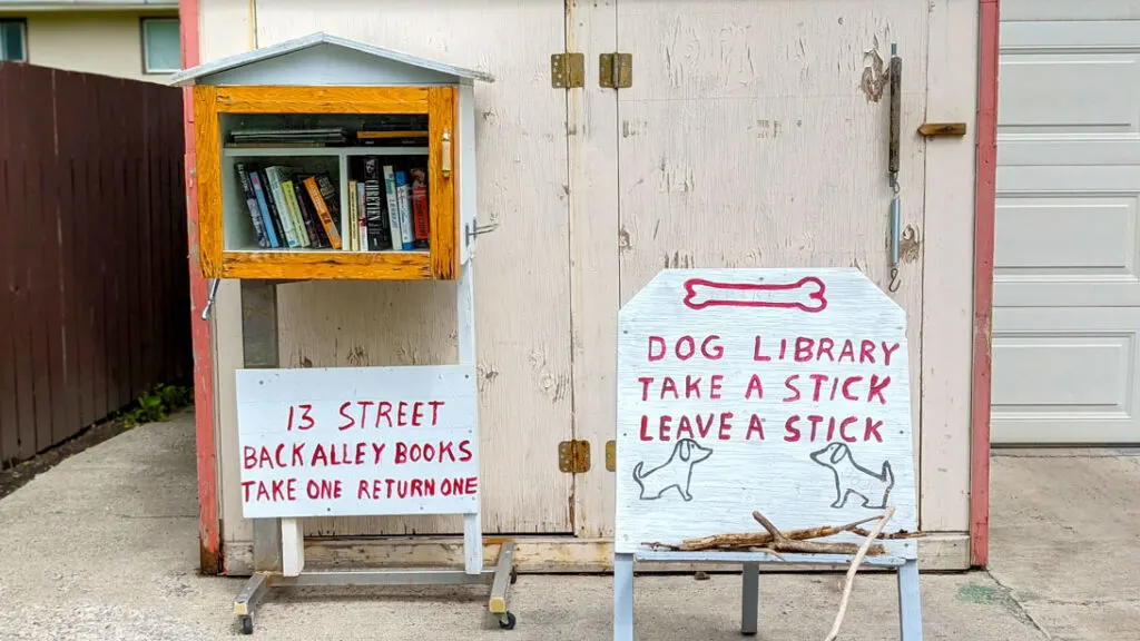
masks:
[[[755,335],[749,343],[738,346],[746,355],[740,358],[740,351],[728,352],[717,334],[649,335],[644,354],[645,363],[652,365],[638,368],[640,400],[646,409],[681,401],[685,411],[643,413],[640,440],[882,443],[889,425],[873,408],[888,404],[891,378],[872,370],[890,367],[899,342]],[[717,372],[718,362],[733,373]],[[755,364],[752,371],[748,363]],[[697,372],[678,371],[686,364]],[[780,367],[779,373],[765,372],[773,365]],[[861,371],[852,372],[852,365]],[[736,411],[724,407],[731,399],[738,401],[732,408]],[[754,411],[741,412],[747,405]],[[797,411],[805,405],[811,407]],[[852,405],[872,409],[848,411]]]

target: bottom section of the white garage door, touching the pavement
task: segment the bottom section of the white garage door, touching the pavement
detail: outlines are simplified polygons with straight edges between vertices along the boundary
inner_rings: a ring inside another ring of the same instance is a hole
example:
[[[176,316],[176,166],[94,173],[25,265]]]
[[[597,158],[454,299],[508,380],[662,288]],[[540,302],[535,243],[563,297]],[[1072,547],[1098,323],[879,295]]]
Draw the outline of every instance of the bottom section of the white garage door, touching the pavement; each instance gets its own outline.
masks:
[[[995,309],[994,440],[1140,438],[1138,349],[1140,310],[1134,308]]]

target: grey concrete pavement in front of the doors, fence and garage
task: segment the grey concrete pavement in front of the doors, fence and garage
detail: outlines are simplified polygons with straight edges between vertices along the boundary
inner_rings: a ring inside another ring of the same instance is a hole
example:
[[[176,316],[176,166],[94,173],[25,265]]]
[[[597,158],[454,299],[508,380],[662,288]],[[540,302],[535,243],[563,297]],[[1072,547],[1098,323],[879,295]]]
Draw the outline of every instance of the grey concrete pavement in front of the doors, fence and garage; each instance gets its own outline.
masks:
[[[928,640],[1140,639],[1140,457],[997,456],[993,568],[922,575]],[[237,639],[241,579],[196,574],[193,416],[136,428],[0,501],[0,639]],[[608,576],[523,575],[514,631],[486,587],[274,593],[254,638],[542,641],[611,638]],[[837,575],[762,577],[756,639],[819,640]],[[740,639],[740,577],[637,581],[638,639]],[[897,639],[893,577],[861,574],[840,639]]]

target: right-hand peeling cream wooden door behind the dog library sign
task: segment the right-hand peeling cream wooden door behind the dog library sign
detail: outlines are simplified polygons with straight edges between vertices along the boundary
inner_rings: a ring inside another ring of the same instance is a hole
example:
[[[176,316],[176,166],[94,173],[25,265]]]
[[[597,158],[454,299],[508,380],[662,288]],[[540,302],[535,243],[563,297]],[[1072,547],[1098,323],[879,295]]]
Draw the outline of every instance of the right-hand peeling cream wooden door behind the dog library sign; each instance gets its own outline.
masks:
[[[945,5],[945,2],[939,2]],[[890,47],[903,58],[902,262],[920,389],[930,8],[911,0],[570,1],[576,437],[613,438],[616,311],[669,267],[855,266],[887,289]],[[628,88],[598,54],[633,56]],[[920,401],[913,401],[919,432]],[[576,530],[612,535],[612,473],[576,479]]]

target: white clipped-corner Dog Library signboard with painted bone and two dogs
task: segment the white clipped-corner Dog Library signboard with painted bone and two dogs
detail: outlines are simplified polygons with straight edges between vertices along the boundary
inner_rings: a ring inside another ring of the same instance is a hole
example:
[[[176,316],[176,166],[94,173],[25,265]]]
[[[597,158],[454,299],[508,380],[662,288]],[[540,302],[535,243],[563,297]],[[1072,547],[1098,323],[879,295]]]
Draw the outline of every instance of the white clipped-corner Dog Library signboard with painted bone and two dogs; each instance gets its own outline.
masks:
[[[618,326],[617,553],[762,532],[754,510],[915,529],[905,313],[861,271],[667,269]]]

